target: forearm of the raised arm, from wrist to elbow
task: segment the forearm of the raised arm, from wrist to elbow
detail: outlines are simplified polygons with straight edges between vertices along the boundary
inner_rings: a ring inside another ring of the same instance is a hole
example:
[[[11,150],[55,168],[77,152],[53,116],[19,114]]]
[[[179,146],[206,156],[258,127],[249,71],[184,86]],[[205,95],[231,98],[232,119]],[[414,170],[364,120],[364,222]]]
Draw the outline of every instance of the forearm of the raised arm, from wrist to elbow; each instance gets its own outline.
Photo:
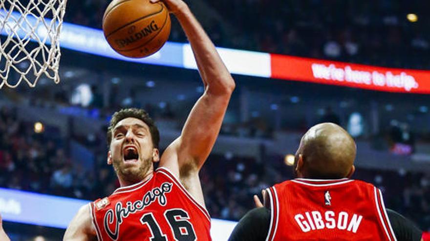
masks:
[[[232,93],[235,82],[230,72],[188,6],[184,4],[175,15],[191,43],[198,69],[206,88],[209,88],[208,91]]]

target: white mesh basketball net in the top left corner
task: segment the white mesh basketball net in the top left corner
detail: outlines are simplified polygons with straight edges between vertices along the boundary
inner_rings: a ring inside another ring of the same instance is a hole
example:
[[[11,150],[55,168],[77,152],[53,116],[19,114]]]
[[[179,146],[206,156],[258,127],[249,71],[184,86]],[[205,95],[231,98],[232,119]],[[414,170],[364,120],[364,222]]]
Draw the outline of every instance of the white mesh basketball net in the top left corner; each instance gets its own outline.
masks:
[[[0,0],[0,89],[60,81],[60,31],[67,0]]]

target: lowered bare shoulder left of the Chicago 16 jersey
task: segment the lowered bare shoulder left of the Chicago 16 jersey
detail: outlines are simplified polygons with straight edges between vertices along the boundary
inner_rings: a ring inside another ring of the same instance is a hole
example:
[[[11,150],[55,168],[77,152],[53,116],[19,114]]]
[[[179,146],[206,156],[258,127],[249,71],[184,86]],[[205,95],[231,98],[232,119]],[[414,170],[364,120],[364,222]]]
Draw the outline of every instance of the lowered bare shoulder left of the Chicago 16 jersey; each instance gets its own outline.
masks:
[[[63,241],[94,241],[96,231],[91,221],[90,204],[82,206],[69,223]]]

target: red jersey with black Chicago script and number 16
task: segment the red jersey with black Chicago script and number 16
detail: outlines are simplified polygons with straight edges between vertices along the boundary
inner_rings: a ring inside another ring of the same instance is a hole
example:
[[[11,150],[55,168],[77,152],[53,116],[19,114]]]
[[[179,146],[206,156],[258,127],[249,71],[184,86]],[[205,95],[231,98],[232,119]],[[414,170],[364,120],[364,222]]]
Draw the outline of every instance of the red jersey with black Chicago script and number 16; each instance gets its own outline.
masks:
[[[208,241],[211,219],[166,168],[91,203],[99,241]]]

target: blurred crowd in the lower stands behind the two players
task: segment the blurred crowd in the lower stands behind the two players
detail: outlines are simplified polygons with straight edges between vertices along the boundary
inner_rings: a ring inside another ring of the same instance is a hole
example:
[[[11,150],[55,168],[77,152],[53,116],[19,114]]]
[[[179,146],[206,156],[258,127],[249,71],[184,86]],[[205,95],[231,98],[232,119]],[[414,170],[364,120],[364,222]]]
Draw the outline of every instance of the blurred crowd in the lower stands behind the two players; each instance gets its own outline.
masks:
[[[0,186],[86,200],[108,196],[119,187],[113,168],[106,164],[104,141],[88,145],[96,154],[94,167],[89,169],[71,160],[67,141],[54,128],[35,133],[32,123],[17,119],[13,109],[2,108]],[[283,157],[244,158],[229,152],[212,154],[200,176],[212,217],[236,221],[254,207],[254,194],[293,178]],[[430,229],[428,174],[359,168],[354,178],[381,188],[387,207]]]

